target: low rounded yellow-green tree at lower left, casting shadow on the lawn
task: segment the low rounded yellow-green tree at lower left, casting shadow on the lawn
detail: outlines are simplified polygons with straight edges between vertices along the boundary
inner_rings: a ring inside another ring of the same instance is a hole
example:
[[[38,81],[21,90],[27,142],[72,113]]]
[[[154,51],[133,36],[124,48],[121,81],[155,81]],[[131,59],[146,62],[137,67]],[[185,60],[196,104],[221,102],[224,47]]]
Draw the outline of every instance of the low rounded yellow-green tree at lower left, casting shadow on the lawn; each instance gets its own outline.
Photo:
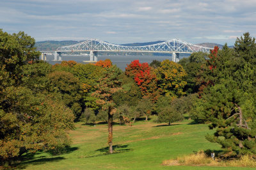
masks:
[[[67,130],[74,128],[74,115],[61,102],[34,95],[24,87],[6,88],[4,95],[0,109],[1,160],[26,151],[58,150],[70,144]]]

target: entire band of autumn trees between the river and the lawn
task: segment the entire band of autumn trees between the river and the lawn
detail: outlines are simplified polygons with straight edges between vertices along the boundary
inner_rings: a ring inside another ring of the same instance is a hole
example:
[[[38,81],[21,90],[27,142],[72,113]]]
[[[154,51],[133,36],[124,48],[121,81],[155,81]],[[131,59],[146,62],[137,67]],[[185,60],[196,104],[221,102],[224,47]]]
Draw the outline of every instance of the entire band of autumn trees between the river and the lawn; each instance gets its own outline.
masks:
[[[70,146],[75,121],[132,125],[152,114],[170,125],[184,119],[216,129],[206,138],[223,147],[221,157],[255,155],[255,38],[244,33],[234,49],[215,47],[174,63],[132,61],[125,72],[109,59],[95,64],[39,61],[35,40],[0,30],[0,158],[11,162],[38,150]]]

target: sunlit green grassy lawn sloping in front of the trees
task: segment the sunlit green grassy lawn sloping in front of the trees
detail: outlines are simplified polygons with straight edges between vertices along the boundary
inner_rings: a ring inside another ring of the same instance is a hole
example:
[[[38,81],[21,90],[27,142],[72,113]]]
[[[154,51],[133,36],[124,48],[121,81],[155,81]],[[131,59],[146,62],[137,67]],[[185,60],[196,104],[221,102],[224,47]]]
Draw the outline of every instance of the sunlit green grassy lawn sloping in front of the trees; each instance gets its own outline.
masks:
[[[189,120],[166,126],[164,123],[137,121],[132,125],[114,125],[113,144],[116,153],[107,154],[108,128],[76,123],[70,132],[72,146],[67,153],[52,156],[37,153],[24,160],[19,168],[26,169],[246,169],[241,167],[162,166],[163,160],[199,150],[220,150],[209,143],[205,134],[213,131],[207,125]]]

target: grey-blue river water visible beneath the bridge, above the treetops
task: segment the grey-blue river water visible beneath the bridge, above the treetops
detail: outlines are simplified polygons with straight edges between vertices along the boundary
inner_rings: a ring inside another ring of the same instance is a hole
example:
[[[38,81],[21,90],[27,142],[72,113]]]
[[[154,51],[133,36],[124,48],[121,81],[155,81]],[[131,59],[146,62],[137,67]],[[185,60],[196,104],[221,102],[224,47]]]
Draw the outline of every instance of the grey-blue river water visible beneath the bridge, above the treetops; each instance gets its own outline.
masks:
[[[188,54],[180,55],[180,59],[184,57],[188,57]],[[47,62],[51,65],[55,65],[56,63],[61,63],[61,61],[52,61],[54,59],[54,56],[46,56]],[[84,63],[83,61],[90,60],[90,56],[61,56],[62,61],[76,61],[77,63]],[[170,59],[172,60],[172,54],[170,56],[98,56],[99,60],[105,60],[105,59],[111,59],[114,65],[118,66],[121,70],[125,70],[125,67],[131,63],[131,61],[134,61],[135,59],[138,59],[140,63],[148,63],[150,64],[154,59],[158,61],[163,61],[164,59]]]

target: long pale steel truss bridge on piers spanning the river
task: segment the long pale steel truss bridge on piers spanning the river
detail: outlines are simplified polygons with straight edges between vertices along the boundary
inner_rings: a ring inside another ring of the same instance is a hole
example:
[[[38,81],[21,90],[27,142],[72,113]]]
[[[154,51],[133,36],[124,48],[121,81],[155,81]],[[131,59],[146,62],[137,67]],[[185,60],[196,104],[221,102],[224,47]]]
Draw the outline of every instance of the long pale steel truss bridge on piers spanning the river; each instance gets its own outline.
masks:
[[[97,52],[162,52],[172,54],[172,61],[179,61],[180,53],[191,54],[193,52],[207,52],[211,48],[193,45],[182,40],[169,40],[166,42],[156,43],[144,46],[124,46],[104,42],[97,39],[86,40],[74,45],[58,47],[56,51],[42,51],[42,58],[46,60],[47,54],[54,54],[54,61],[61,61],[63,52],[90,52],[90,61],[97,61]],[[58,59],[59,58],[59,59]]]

